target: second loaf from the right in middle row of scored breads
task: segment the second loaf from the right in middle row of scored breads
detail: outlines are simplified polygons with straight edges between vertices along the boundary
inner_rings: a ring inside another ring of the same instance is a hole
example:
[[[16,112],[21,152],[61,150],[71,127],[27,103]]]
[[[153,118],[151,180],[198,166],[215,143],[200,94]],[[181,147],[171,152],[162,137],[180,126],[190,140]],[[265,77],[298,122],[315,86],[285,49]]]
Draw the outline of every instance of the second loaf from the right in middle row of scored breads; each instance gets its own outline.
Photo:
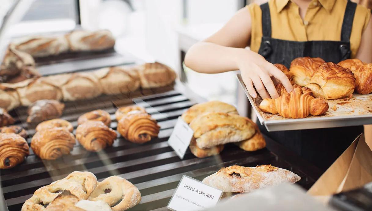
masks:
[[[131,67],[106,67],[93,73],[99,79],[103,93],[107,95],[133,92],[140,87],[137,69]]]

